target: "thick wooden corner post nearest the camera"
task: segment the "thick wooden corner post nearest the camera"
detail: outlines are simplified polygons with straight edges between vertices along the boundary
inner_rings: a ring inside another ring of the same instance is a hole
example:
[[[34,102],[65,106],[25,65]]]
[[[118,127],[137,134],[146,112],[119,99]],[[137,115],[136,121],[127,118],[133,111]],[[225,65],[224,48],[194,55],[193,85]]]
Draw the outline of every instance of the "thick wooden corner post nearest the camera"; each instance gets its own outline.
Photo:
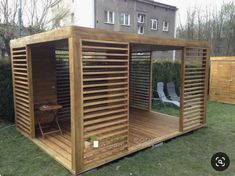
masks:
[[[81,42],[78,37],[69,38],[71,143],[72,170],[83,169],[83,80]]]

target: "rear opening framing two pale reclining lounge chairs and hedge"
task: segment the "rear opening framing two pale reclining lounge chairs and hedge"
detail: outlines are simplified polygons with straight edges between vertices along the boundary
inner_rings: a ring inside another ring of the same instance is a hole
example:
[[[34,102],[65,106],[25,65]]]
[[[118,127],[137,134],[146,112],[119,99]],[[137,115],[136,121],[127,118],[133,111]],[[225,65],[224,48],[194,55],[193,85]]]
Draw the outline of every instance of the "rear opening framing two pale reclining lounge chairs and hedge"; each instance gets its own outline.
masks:
[[[182,50],[152,53],[152,110],[179,117]]]

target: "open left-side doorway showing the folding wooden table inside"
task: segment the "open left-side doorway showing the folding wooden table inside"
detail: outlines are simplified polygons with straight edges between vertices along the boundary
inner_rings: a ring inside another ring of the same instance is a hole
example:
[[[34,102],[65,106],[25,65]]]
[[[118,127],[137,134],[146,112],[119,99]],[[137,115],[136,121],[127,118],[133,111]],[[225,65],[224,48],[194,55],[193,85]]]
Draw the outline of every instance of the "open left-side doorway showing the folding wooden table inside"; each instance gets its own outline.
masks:
[[[37,143],[71,168],[68,41],[30,45]]]

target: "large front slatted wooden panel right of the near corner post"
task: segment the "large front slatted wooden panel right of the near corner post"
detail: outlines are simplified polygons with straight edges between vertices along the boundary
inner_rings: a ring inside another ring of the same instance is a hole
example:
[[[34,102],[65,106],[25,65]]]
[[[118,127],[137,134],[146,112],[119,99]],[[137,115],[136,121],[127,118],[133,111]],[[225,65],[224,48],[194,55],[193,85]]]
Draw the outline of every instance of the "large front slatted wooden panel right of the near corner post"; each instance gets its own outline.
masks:
[[[128,147],[129,45],[82,41],[84,168],[111,160]],[[86,147],[96,137],[100,147]]]

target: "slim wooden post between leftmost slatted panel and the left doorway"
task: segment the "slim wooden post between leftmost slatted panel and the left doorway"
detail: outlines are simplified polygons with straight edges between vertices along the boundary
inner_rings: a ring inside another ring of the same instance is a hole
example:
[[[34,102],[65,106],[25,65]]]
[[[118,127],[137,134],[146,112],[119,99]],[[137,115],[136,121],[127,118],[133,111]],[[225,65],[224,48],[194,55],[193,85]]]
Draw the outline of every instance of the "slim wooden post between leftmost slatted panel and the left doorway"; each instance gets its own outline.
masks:
[[[29,113],[30,113],[30,130],[31,137],[35,138],[35,117],[34,117],[34,98],[33,98],[33,79],[32,79],[32,55],[31,48],[26,46],[26,59],[27,59],[27,70],[28,70],[28,81],[29,81]]]

